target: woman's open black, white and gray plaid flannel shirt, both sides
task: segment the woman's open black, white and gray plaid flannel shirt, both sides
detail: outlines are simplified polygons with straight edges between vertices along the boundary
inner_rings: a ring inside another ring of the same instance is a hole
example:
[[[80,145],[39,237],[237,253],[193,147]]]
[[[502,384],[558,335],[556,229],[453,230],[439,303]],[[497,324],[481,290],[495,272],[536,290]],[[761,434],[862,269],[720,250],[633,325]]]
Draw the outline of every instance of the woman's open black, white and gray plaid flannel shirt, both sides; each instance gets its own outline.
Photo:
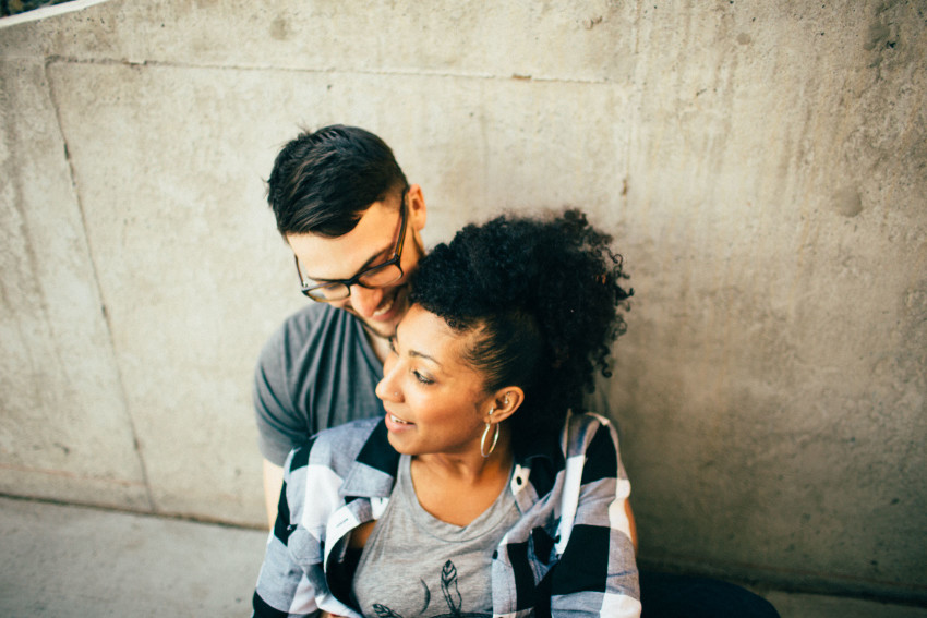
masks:
[[[493,554],[494,616],[640,615],[618,452],[606,419],[578,414],[558,441],[515,455],[508,490],[521,517]],[[347,540],[383,513],[398,463],[383,420],[334,427],[289,455],[253,616],[360,617]]]

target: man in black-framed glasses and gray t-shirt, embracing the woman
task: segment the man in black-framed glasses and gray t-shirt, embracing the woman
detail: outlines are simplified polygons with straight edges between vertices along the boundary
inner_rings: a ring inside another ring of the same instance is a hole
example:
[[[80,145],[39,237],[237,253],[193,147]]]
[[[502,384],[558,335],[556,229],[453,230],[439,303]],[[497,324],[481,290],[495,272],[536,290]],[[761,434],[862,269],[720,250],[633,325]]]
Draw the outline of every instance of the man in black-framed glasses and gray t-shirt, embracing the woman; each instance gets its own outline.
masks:
[[[385,414],[374,388],[424,253],[425,202],[376,135],[333,125],[303,133],[274,162],[268,202],[312,302],[257,363],[254,405],[273,526],[282,463],[310,435]],[[297,279],[298,278],[298,279]]]

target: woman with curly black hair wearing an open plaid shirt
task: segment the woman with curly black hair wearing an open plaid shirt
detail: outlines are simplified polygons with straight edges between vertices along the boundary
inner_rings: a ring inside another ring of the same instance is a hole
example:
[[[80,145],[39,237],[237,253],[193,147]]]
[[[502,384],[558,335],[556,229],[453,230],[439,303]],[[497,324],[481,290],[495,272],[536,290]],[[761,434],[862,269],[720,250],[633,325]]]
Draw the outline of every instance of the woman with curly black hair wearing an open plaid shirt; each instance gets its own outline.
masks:
[[[386,417],[290,453],[256,616],[639,615],[617,436],[578,413],[624,330],[610,241],[499,217],[421,260]]]

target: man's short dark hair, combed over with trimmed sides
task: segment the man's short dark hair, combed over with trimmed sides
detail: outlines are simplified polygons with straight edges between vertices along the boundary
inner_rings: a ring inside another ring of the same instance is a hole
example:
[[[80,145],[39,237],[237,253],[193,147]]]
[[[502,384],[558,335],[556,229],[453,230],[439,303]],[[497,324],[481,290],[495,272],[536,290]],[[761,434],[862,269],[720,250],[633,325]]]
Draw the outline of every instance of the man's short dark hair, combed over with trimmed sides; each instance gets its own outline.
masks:
[[[386,143],[357,126],[305,131],[287,144],[267,180],[280,234],[344,235],[374,202],[401,191],[406,175]]]

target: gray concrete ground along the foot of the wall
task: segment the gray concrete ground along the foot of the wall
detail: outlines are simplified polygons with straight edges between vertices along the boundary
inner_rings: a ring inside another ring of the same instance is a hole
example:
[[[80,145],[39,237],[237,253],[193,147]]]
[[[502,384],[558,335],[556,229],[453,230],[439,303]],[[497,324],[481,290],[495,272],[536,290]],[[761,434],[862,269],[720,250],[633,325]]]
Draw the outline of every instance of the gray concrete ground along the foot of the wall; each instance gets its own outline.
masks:
[[[0,497],[0,615],[248,616],[266,534]],[[758,590],[782,618],[927,618],[927,609]]]

